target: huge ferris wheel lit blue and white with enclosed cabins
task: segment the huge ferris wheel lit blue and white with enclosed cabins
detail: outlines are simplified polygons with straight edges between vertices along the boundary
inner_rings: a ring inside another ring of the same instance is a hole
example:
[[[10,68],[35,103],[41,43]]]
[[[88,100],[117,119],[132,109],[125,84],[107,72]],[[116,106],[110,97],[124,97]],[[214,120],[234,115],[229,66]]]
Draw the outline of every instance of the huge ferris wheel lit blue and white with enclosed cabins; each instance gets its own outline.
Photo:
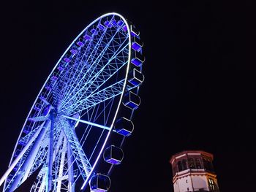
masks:
[[[143,42],[118,13],[89,24],[48,76],[20,131],[3,191],[108,191],[140,105]]]

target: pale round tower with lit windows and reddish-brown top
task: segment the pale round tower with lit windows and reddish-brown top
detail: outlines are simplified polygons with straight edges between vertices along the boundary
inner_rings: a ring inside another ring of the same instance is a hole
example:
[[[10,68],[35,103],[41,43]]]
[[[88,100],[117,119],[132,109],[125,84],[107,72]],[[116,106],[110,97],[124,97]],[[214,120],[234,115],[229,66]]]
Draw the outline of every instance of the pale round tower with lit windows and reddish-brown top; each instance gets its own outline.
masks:
[[[170,158],[174,192],[219,192],[212,161],[214,155],[202,150],[186,150]]]

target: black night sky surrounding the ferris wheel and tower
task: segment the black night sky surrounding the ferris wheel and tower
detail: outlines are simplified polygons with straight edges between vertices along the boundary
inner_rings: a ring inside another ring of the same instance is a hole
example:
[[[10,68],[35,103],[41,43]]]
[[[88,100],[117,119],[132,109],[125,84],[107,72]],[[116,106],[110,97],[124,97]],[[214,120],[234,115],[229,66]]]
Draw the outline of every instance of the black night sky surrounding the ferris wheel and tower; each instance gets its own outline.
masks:
[[[142,104],[111,192],[173,191],[170,156],[214,154],[219,188],[255,179],[254,9],[248,1],[11,1],[1,4],[0,174],[39,89],[92,20],[118,12],[140,29]]]

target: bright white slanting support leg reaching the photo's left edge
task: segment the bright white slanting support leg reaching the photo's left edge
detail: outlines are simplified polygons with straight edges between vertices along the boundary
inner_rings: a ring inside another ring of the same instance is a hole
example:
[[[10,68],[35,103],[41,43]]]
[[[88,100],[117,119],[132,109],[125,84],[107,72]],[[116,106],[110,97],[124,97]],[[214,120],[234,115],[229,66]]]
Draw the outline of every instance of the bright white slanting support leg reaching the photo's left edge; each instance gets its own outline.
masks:
[[[23,148],[23,150],[20,151],[20,154],[18,155],[17,158],[15,158],[15,160],[12,162],[12,164],[10,164],[9,168],[7,169],[7,171],[4,173],[4,175],[1,177],[0,180],[0,186],[1,184],[4,183],[4,180],[7,179],[8,175],[10,174],[10,172],[12,172],[12,169],[15,167],[16,164],[18,164],[18,161],[20,161],[20,158],[23,157],[24,153],[26,153],[26,150],[29,149],[30,145],[32,144],[32,142],[34,142],[35,139],[37,139],[39,133],[42,130],[44,123],[37,129],[37,131],[34,133],[34,135],[31,137],[31,139],[29,140],[29,142],[26,144],[26,146]]]

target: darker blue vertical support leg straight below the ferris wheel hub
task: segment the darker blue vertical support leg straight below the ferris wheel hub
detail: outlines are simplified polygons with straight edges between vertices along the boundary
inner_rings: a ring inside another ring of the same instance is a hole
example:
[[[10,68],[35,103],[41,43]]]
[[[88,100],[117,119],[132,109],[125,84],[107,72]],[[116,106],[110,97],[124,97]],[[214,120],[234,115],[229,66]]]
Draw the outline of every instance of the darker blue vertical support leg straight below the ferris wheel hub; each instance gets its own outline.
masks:
[[[53,131],[54,131],[54,117],[50,115],[50,142],[49,142],[49,161],[48,161],[48,188],[47,192],[51,191],[53,181]]]

